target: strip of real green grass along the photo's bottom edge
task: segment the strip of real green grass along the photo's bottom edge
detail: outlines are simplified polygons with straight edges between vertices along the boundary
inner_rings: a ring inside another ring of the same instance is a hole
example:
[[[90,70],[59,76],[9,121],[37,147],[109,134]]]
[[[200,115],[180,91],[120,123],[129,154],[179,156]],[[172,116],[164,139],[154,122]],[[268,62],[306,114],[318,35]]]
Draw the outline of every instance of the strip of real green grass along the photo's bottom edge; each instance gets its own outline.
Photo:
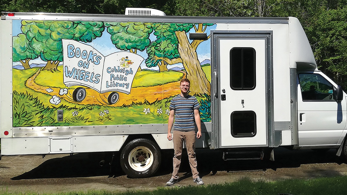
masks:
[[[154,190],[133,190],[125,192],[109,191],[88,191],[88,192],[68,192],[56,193],[57,195],[205,195],[205,194],[235,194],[235,195],[277,195],[288,193],[293,195],[320,195],[320,194],[347,194],[347,176],[321,177],[315,179],[286,179],[276,181],[252,181],[248,178],[237,180],[233,183],[210,184],[204,186],[172,186],[158,187]],[[12,195],[2,189],[0,194]],[[15,194],[34,195],[37,193],[21,192]],[[44,194],[44,193],[40,193]]]

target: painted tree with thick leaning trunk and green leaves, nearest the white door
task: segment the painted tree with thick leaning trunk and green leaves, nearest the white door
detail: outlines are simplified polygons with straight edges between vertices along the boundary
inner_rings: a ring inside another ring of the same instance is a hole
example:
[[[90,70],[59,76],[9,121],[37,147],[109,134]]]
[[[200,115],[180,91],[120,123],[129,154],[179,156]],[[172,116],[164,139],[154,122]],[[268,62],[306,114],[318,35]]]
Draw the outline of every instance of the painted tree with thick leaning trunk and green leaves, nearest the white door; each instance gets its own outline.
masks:
[[[197,46],[203,41],[210,38],[210,35],[206,39],[194,39],[192,42],[188,40],[187,33],[194,28],[197,33],[204,33],[207,26],[213,24],[179,24],[179,23],[161,23],[156,24],[154,27],[154,35],[157,36],[158,40],[161,38],[169,37],[172,47],[179,53],[178,56],[169,55],[169,57],[158,57],[154,56],[157,60],[162,60],[169,65],[175,63],[182,63],[186,70],[186,78],[191,80],[190,91],[192,95],[203,95],[210,94],[211,84],[206,78],[204,71],[201,68],[200,62],[197,57],[196,49]],[[176,37],[170,39],[170,37]],[[159,52],[160,53],[160,52]]]

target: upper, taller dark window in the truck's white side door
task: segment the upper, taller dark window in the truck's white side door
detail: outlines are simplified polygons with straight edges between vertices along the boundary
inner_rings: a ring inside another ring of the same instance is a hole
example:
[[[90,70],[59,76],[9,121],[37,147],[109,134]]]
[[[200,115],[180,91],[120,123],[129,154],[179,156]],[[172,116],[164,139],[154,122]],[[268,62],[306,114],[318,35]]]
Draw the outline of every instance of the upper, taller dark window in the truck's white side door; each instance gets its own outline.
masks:
[[[233,90],[255,88],[254,48],[232,48],[230,50],[230,87]]]

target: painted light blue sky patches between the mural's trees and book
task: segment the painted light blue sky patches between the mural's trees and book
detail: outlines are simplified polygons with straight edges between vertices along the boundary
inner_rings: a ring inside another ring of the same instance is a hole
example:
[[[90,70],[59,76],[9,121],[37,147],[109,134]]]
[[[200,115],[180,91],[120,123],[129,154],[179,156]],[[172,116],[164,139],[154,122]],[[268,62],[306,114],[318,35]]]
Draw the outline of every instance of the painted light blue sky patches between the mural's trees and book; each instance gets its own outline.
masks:
[[[16,36],[19,33],[22,33],[21,29],[20,29],[20,22],[21,20],[12,20],[12,35]],[[206,33],[208,33],[210,30],[213,30],[216,28],[217,25],[213,25],[213,26],[208,26],[206,28]],[[190,32],[195,32],[194,28],[191,29]],[[115,53],[115,52],[119,52],[122,50],[119,50],[115,47],[115,45],[112,44],[112,41],[110,39],[111,35],[105,30],[102,33],[101,37],[98,37],[96,39],[93,40],[93,42],[91,43],[86,43],[88,45],[93,46],[93,48],[95,48],[96,50],[98,50],[100,53],[103,54],[103,56],[108,56],[111,53]],[[156,39],[156,37],[153,35],[153,33],[150,35],[150,40],[154,41]],[[202,43],[200,43],[200,45],[198,46],[196,52],[198,54],[198,59],[200,62],[204,61],[205,59],[210,59],[211,55],[210,55],[210,39],[207,41],[203,41]],[[146,51],[137,51],[137,54],[139,54],[140,56],[142,56],[144,59],[147,58],[147,53]],[[44,61],[42,61],[41,59],[35,59],[35,60],[31,60],[30,63],[36,63],[36,64],[40,64],[40,63],[45,63]],[[20,65],[20,62],[13,62],[13,66],[16,65]],[[177,63],[175,65],[168,65],[168,69],[173,68],[173,67],[180,67],[183,68],[183,65],[181,63]],[[141,68],[142,69],[146,69],[148,67],[146,67],[145,65],[145,60],[142,62],[141,64]],[[153,69],[158,70],[158,67],[153,67]]]

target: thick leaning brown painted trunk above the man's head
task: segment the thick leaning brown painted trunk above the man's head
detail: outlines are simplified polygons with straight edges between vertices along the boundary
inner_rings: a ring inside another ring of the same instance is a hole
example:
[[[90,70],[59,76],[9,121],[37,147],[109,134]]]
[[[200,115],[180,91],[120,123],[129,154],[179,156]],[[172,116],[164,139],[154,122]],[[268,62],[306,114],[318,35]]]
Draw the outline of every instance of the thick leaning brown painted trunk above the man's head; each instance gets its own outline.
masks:
[[[186,78],[191,81],[191,95],[210,94],[211,84],[201,68],[196,50],[189,43],[185,32],[176,31],[175,33],[178,39],[178,52],[187,72]]]

